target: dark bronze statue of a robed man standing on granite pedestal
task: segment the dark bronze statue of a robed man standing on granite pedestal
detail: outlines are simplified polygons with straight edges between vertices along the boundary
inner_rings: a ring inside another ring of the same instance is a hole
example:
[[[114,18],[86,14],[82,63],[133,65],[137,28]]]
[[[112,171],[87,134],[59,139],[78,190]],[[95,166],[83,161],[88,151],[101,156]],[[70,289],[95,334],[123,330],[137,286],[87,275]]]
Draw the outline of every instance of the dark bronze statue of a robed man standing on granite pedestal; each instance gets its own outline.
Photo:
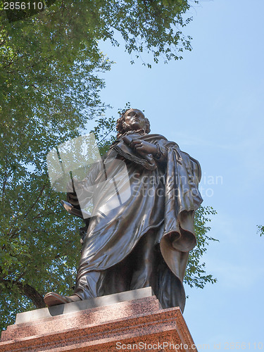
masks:
[[[151,286],[163,308],[184,310],[182,285],[189,251],[196,245],[194,211],[202,199],[198,190],[201,168],[194,158],[160,134],[149,134],[149,120],[130,108],[118,119],[118,137],[103,163],[118,175],[124,161],[131,195],[125,203],[102,213],[111,196],[104,189],[94,199],[94,215],[87,234],[75,292],[61,296],[50,292],[47,306]],[[68,193],[68,201],[80,209],[77,189],[98,184],[103,168],[95,165],[82,182]],[[111,177],[110,177],[111,178]],[[109,180],[110,180],[109,178]],[[127,183],[119,177],[120,196]],[[109,181],[110,182],[110,181]]]

